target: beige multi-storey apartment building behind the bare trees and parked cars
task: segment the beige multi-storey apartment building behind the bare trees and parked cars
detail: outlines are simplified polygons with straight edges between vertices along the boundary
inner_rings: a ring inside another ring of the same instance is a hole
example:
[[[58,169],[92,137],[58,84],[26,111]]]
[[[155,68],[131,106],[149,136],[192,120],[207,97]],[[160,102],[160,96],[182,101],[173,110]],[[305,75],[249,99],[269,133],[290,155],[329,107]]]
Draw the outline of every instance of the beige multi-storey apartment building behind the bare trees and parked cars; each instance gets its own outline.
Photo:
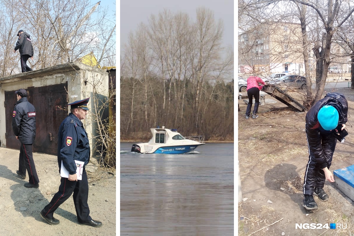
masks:
[[[304,73],[297,23],[264,22],[239,34],[239,73]]]

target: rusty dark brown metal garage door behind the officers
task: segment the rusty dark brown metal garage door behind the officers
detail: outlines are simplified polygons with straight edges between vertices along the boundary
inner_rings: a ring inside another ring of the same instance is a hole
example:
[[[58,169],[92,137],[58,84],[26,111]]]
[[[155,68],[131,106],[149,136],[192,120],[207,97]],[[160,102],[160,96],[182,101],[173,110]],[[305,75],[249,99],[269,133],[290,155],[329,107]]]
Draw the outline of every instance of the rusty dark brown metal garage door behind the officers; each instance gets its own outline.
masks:
[[[33,145],[35,152],[57,155],[59,126],[68,116],[67,88],[68,84],[65,83],[27,89],[28,100],[36,109],[36,139]],[[6,104],[6,117],[12,117],[13,104],[17,100],[13,94],[15,91],[5,92],[5,103],[11,104],[11,106]],[[17,149],[19,142],[12,132],[11,120],[6,120],[6,147]]]

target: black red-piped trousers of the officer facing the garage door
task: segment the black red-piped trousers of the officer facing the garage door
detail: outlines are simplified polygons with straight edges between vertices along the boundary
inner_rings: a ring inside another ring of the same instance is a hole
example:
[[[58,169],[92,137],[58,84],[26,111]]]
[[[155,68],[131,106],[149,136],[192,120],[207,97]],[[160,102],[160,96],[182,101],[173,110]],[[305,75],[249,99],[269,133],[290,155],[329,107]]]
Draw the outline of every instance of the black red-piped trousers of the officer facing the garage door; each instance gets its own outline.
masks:
[[[36,171],[36,167],[33,161],[32,144],[23,144],[20,146],[20,155],[18,158],[18,171],[26,175],[26,169],[28,172],[29,183],[38,184],[39,179]]]

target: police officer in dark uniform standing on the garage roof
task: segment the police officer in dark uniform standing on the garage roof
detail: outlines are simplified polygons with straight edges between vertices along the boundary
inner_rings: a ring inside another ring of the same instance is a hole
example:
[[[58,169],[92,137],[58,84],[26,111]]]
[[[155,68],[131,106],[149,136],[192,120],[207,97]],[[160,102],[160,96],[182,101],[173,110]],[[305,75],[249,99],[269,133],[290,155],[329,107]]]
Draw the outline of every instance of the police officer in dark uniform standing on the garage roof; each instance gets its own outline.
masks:
[[[16,42],[16,46],[13,52],[16,52],[17,49],[20,52],[22,72],[32,71],[32,69],[27,65],[27,60],[29,58],[32,58],[33,60],[33,46],[30,35],[20,29],[18,31],[17,36],[18,40]]]

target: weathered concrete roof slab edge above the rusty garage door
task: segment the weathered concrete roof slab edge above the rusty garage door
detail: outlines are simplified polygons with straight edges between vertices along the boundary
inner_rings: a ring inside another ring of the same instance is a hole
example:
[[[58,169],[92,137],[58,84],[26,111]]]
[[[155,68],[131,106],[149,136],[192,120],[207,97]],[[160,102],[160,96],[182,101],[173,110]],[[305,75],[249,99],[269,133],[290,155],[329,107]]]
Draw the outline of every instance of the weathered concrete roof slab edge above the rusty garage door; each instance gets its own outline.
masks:
[[[57,73],[66,72],[66,71],[70,71],[70,70],[80,70],[79,64],[81,64],[81,63],[66,63],[66,64],[61,64],[61,65],[56,65],[54,67],[33,70],[33,71],[19,73],[19,74],[15,74],[15,75],[9,75],[9,76],[0,78],[0,84],[20,81],[20,80],[26,80],[26,79],[32,79],[35,77],[52,75],[52,74],[57,74]]]

